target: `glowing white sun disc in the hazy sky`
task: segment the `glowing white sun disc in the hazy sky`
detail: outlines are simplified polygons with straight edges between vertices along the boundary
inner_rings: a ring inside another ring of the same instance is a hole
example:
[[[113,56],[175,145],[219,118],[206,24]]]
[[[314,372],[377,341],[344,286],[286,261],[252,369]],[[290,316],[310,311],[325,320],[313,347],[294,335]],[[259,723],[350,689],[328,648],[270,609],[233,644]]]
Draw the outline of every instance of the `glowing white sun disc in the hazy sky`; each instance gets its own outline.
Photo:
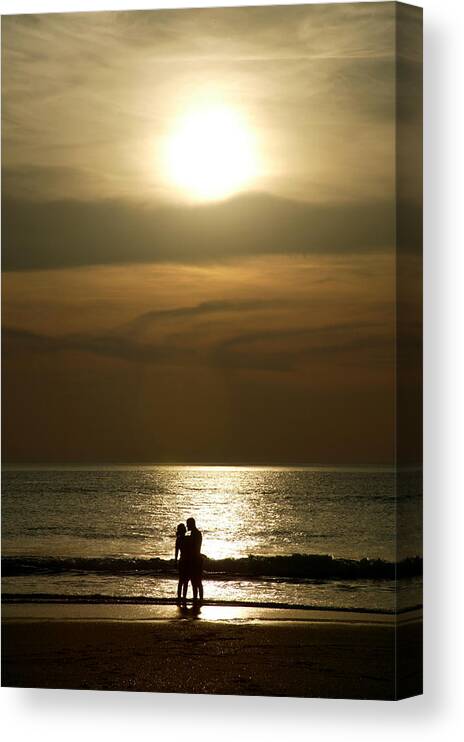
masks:
[[[186,114],[166,147],[169,179],[190,197],[225,198],[257,174],[254,137],[238,111],[226,106]]]

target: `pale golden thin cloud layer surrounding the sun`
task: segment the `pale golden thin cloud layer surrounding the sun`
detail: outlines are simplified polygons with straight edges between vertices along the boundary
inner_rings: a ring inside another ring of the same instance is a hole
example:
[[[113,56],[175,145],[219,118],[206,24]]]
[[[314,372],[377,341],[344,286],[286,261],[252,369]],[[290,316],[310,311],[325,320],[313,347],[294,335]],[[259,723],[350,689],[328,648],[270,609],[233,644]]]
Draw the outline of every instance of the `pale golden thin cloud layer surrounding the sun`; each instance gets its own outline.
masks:
[[[257,188],[391,196],[395,17],[393,3],[5,17],[14,195],[176,199],[163,141],[183,110],[219,99],[256,131]]]

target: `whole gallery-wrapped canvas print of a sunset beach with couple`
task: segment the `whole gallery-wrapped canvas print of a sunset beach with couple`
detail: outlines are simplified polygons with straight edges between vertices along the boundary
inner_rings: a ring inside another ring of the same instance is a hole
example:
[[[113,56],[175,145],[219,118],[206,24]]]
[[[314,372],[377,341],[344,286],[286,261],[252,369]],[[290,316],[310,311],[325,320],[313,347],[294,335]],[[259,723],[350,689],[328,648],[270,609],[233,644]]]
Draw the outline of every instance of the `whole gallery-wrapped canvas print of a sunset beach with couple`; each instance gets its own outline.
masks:
[[[421,693],[421,44],[3,17],[3,685]]]

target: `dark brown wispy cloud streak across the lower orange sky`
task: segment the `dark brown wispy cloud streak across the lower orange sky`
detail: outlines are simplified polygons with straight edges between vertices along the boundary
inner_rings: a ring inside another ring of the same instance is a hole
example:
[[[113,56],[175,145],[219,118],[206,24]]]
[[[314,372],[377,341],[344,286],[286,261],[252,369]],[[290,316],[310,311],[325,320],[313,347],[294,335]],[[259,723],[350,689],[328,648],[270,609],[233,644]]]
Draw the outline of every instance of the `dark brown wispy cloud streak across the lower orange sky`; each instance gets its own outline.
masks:
[[[194,331],[183,335],[163,334],[166,321],[217,314],[245,313],[277,307],[278,302],[204,302],[191,307],[145,312],[125,326],[99,334],[68,333],[50,336],[18,328],[5,328],[3,341],[9,355],[14,353],[84,352],[134,363],[180,367],[209,366],[224,369],[292,371],[308,361],[338,359],[349,365],[391,363],[393,325],[378,321],[332,322],[319,326],[257,327],[253,316],[244,324],[240,317],[230,326],[218,326],[201,338]],[[285,302],[285,306],[288,303]],[[246,329],[239,329],[246,327]],[[141,330],[151,328],[147,339]],[[158,330],[158,332],[157,332]],[[161,330],[161,333],[159,332]],[[402,327],[402,337],[414,344],[419,330]]]

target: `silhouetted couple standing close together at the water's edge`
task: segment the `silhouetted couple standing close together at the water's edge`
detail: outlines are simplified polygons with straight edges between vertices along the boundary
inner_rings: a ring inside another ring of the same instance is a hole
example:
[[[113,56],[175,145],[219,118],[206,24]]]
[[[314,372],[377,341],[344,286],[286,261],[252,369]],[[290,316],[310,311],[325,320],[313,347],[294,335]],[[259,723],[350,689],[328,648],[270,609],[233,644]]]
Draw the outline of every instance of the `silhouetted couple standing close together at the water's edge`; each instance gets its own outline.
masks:
[[[189,581],[192,583],[193,600],[203,600],[203,557],[201,542],[203,536],[198,530],[195,518],[187,519],[187,527],[179,523],[176,533],[175,560],[179,565],[179,582],[177,585],[177,600],[187,600]]]

